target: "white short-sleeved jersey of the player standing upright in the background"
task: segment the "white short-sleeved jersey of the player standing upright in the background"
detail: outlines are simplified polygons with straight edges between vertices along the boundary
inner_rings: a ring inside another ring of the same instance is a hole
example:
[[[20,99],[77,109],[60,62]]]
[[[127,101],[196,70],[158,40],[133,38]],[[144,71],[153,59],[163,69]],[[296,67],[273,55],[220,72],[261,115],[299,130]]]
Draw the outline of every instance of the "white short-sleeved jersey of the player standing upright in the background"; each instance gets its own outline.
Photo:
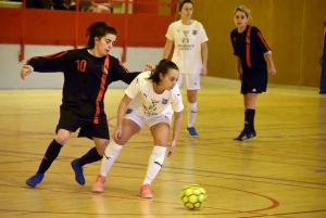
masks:
[[[200,74],[202,67],[201,43],[209,40],[201,23],[193,21],[184,25],[181,21],[168,26],[165,37],[174,41],[172,61],[183,74]]]

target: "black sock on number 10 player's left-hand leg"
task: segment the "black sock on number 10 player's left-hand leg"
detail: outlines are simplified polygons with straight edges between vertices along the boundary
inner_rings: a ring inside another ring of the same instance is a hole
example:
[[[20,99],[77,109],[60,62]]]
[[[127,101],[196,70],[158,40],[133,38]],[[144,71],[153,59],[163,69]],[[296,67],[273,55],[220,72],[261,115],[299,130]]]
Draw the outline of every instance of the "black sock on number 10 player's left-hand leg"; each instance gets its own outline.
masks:
[[[58,157],[61,148],[62,144],[59,144],[55,140],[50,143],[37,172],[45,174],[50,168],[52,162]]]

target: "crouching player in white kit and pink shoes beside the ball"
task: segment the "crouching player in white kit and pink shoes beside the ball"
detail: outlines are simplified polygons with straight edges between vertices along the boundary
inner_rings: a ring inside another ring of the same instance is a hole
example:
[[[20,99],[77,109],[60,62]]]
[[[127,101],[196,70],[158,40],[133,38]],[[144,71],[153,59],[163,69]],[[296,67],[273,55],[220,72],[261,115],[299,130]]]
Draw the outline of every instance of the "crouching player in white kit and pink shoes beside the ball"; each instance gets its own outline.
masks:
[[[116,129],[104,152],[101,170],[91,188],[92,191],[103,191],[106,174],[121,149],[147,123],[153,137],[154,148],[149,158],[145,180],[140,185],[139,195],[146,198],[153,197],[150,185],[160,171],[165,157],[173,114],[173,138],[167,157],[175,151],[183,123],[184,104],[177,86],[178,78],[177,65],[172,61],[162,60],[155,69],[139,74],[129,85],[120,103]]]

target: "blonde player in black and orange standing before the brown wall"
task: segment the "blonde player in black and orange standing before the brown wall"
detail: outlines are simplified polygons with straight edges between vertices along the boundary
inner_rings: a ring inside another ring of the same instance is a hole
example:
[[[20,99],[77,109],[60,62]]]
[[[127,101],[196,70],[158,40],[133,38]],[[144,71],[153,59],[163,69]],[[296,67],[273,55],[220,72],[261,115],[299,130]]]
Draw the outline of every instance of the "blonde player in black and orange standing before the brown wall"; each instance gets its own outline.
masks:
[[[241,93],[244,101],[244,128],[235,140],[243,141],[256,136],[254,129],[255,101],[259,93],[267,88],[267,64],[269,74],[275,75],[276,69],[272,59],[272,51],[262,33],[254,26],[248,25],[250,10],[238,7],[234,13],[237,26],[230,39],[236,55],[237,77],[241,79]]]

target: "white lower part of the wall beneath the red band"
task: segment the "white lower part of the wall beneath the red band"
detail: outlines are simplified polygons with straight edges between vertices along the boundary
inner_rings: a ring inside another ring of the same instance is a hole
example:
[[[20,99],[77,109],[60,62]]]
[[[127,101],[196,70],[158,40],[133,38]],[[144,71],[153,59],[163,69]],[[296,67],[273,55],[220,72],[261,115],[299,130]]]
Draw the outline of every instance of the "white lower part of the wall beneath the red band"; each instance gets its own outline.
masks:
[[[64,46],[25,46],[25,60],[18,61],[18,44],[0,44],[0,89],[61,89],[63,86],[62,73],[33,73],[22,80],[22,66],[32,56],[42,56],[60,51],[73,49]],[[121,60],[122,48],[113,48],[111,55]],[[141,72],[147,63],[158,64],[162,59],[163,48],[128,48],[127,61],[124,66],[130,72]],[[122,82],[113,82],[110,88],[126,88]]]

